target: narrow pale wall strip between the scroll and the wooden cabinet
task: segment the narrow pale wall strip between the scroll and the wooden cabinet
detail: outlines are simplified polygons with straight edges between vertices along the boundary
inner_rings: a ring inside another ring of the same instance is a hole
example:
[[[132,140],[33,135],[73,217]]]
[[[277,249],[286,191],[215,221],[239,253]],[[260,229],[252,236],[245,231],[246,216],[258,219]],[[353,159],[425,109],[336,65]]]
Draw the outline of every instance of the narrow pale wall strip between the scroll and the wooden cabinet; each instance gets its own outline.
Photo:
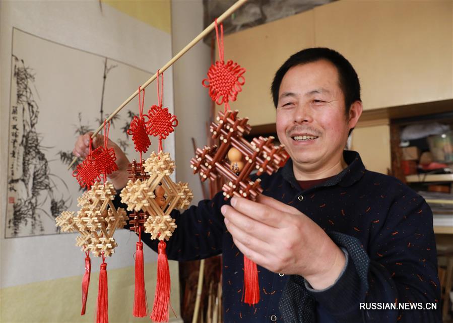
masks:
[[[195,38],[203,28],[202,0],[172,2],[172,44],[176,54]],[[188,182],[193,191],[193,203],[203,199],[200,177],[190,168],[195,155],[191,138],[197,147],[208,143],[206,123],[209,120],[211,99],[202,86],[211,62],[211,49],[200,41],[173,65],[175,114],[179,124],[175,130],[176,179]]]

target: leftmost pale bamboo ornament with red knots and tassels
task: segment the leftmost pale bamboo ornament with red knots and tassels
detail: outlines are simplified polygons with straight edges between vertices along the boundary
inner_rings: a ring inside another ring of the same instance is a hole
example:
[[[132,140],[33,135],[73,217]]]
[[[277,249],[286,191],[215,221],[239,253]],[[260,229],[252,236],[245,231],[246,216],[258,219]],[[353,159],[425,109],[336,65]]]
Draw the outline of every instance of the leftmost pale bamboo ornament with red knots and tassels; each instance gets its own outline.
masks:
[[[91,165],[97,172],[99,179],[103,172],[103,183],[95,181],[91,188],[86,190],[77,199],[77,212],[63,211],[56,217],[56,225],[63,232],[79,232],[76,237],[76,245],[85,252],[85,275],[82,280],[82,312],[85,314],[88,286],[90,282],[91,260],[89,253],[95,257],[102,257],[101,271],[99,275],[97,323],[108,323],[108,293],[107,293],[107,264],[105,257],[111,256],[115,252],[117,243],[113,238],[116,229],[124,227],[126,224],[126,212],[122,208],[116,209],[112,203],[116,195],[113,184],[106,181],[107,174],[111,173],[117,166],[115,164],[115,153],[112,148],[107,148],[108,126],[104,122],[104,146],[98,147],[95,151],[91,150],[82,165]],[[101,149],[100,149],[101,148]],[[97,151],[97,153],[95,153]],[[107,157],[109,156],[109,157]],[[110,158],[110,159],[108,159]],[[81,167],[83,169],[83,167]],[[95,173],[94,170],[92,170]],[[82,176],[83,171],[78,175]],[[82,176],[83,177],[83,176]],[[78,179],[79,181],[79,179]],[[83,178],[85,184],[88,179]],[[80,181],[79,181],[80,183]]]

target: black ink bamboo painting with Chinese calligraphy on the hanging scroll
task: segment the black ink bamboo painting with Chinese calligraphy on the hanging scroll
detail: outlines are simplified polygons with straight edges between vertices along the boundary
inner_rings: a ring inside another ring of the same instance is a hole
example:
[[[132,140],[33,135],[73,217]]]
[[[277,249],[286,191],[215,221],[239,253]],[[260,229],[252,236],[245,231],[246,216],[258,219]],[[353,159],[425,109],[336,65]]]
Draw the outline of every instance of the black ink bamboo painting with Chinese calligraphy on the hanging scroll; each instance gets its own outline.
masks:
[[[76,211],[80,195],[67,170],[74,142],[151,73],[18,29],[12,48],[5,238],[56,234],[55,217]],[[112,120],[110,139],[133,156],[126,131],[136,110],[124,112]]]

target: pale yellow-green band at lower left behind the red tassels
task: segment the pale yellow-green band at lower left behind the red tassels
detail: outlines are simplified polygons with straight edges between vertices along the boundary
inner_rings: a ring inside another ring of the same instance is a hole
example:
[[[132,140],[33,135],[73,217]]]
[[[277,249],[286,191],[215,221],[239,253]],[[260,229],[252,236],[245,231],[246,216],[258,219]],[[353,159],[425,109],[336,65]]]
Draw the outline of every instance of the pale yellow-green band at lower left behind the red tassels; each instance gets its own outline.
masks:
[[[81,260],[83,262],[83,257],[81,257]],[[55,261],[57,260],[55,259]],[[4,323],[92,323],[96,320],[99,264],[99,259],[92,259],[90,288],[84,316],[80,315],[82,276],[72,276],[3,288],[0,321]],[[107,265],[110,323],[150,322],[149,317],[132,316],[135,288],[134,272],[134,267],[110,270]],[[178,266],[176,262],[170,262],[170,276],[174,282],[178,281]],[[148,292],[148,307],[151,310],[156,288],[156,264],[145,264],[145,285]],[[172,284],[171,306],[176,313],[179,313],[178,293],[178,284]],[[175,318],[171,311],[170,322],[180,322],[180,319]]]

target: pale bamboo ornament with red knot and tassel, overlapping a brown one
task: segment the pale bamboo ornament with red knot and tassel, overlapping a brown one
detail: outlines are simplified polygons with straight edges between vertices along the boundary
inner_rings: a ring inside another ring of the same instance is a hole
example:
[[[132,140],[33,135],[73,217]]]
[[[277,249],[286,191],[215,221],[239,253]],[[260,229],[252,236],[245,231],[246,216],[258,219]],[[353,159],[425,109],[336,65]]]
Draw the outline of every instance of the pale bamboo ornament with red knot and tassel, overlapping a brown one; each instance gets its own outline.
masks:
[[[157,74],[159,76],[159,71]],[[159,150],[157,154],[152,152],[146,161],[142,160],[140,164],[133,161],[129,165],[130,180],[121,190],[120,197],[121,202],[127,205],[127,210],[132,212],[129,221],[130,229],[139,234],[136,260],[138,259],[137,254],[140,254],[143,246],[143,244],[139,245],[142,233],[149,233],[151,239],[160,240],[158,244],[157,284],[151,319],[155,322],[167,322],[170,304],[170,271],[165,252],[165,240],[168,240],[176,229],[175,220],[171,218],[170,214],[174,209],[186,209],[190,205],[193,195],[187,187],[187,183],[174,183],[171,180],[170,175],[175,169],[175,163],[170,158],[169,153],[162,151],[162,140],[174,131],[178,121],[175,115],[168,112],[168,108],[162,109],[163,75],[160,75],[162,85],[159,86],[158,77],[158,105],[153,105],[150,108],[148,111],[149,120],[147,121],[148,135],[158,137]],[[138,271],[136,266],[136,291]],[[141,281],[140,278],[139,282],[141,283]],[[134,304],[136,304],[136,301]],[[134,308],[136,308],[136,305],[134,305]],[[143,311],[141,313],[143,314]],[[136,315],[136,312],[134,312],[134,315]]]

